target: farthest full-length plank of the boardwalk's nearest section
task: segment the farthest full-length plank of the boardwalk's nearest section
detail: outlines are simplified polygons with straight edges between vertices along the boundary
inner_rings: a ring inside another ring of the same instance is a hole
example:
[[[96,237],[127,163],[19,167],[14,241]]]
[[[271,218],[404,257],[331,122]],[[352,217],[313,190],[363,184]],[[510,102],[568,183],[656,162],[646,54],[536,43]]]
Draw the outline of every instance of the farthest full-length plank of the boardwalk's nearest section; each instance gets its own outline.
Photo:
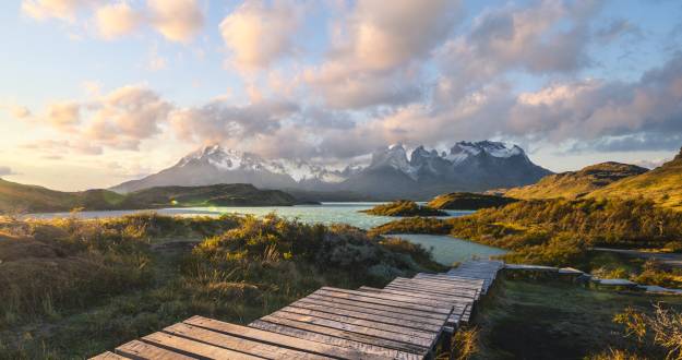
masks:
[[[186,324],[190,324],[198,327],[203,327],[206,329],[211,329],[213,332],[218,332],[223,334],[229,334],[239,337],[246,337],[255,341],[261,341],[265,344],[272,345],[286,345],[292,349],[299,349],[308,352],[326,355],[334,358],[343,358],[343,359],[357,359],[357,358],[367,358],[367,359],[385,359],[392,356],[386,355],[385,357],[378,353],[364,353],[360,352],[357,349],[349,347],[342,347],[337,345],[324,344],[320,341],[313,341],[304,338],[299,338],[295,336],[288,336],[277,333],[272,333],[267,331],[262,331],[255,327],[247,327],[235,325],[230,323],[225,323],[222,321],[202,317],[202,316],[192,316],[184,321]],[[394,351],[395,352],[395,351]]]

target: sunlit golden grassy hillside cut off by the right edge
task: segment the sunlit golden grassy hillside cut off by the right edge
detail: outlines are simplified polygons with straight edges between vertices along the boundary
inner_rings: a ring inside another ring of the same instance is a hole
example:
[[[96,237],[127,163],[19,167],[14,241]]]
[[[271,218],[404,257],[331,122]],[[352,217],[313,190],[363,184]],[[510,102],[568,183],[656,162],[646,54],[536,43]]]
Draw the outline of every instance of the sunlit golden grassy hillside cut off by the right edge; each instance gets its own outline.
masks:
[[[589,197],[644,197],[682,211],[682,149],[669,163],[646,173],[623,179],[591,192]]]

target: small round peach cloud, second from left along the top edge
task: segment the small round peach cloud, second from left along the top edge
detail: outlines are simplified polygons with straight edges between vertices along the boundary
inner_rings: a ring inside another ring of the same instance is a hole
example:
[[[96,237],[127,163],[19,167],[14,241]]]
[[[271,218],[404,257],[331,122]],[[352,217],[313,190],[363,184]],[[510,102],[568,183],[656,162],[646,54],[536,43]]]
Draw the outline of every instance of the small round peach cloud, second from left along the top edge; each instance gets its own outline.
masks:
[[[127,2],[106,4],[95,12],[99,34],[107,39],[129,35],[140,27],[142,14]]]

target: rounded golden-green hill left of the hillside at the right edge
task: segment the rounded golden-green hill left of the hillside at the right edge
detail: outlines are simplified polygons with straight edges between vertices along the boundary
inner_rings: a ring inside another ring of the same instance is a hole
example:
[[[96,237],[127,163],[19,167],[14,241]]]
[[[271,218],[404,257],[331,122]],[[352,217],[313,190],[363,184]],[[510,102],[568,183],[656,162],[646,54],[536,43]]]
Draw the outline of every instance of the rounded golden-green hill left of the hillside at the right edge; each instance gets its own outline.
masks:
[[[623,179],[647,172],[647,169],[621,163],[601,163],[583,168],[547,176],[535,184],[510,189],[505,196],[514,199],[577,199]]]

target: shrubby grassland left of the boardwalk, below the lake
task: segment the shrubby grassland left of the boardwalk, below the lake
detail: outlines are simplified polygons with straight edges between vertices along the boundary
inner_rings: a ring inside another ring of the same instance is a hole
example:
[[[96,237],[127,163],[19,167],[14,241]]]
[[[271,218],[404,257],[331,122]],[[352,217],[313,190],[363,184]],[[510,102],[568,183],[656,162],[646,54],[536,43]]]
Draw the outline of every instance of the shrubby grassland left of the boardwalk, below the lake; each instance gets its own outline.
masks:
[[[195,314],[246,324],[322,286],[442,269],[403,240],[276,216],[5,219],[0,232],[0,359],[89,357]]]

